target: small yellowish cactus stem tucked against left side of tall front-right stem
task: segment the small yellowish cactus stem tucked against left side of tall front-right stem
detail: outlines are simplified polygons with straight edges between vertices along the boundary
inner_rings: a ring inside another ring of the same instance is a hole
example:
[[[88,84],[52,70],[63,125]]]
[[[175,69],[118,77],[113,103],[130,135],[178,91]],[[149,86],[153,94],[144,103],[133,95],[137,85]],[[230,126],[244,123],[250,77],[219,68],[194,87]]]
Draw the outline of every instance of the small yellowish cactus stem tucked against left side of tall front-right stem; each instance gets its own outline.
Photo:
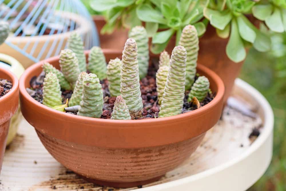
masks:
[[[156,73],[157,96],[159,104],[162,102],[168,71],[169,67],[167,65],[161,65]]]

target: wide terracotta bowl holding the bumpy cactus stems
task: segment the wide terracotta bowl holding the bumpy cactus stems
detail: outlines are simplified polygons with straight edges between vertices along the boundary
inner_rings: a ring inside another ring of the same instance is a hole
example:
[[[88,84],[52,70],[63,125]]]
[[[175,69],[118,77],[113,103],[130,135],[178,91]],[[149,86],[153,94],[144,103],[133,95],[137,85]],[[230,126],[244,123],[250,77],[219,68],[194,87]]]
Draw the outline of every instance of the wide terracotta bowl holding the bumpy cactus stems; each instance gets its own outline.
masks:
[[[107,61],[121,57],[110,50],[104,54]],[[46,61],[59,68],[58,60]],[[166,118],[109,120],[59,112],[34,100],[26,88],[41,73],[42,64],[29,67],[20,79],[23,116],[57,161],[97,184],[131,187],[159,179],[196,150],[221,116],[223,82],[202,65],[198,65],[199,73],[208,77],[210,88],[217,92],[209,104]]]

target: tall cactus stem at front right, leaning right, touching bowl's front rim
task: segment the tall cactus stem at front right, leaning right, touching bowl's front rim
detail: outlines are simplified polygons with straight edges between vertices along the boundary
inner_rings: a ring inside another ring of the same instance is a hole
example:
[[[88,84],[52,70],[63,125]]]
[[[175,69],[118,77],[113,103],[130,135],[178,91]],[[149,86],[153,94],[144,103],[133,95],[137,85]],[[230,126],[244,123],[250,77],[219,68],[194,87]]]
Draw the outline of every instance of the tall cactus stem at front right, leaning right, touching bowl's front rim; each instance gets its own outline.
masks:
[[[182,113],[185,96],[186,49],[176,46],[171,55],[170,69],[164,89],[159,117]]]

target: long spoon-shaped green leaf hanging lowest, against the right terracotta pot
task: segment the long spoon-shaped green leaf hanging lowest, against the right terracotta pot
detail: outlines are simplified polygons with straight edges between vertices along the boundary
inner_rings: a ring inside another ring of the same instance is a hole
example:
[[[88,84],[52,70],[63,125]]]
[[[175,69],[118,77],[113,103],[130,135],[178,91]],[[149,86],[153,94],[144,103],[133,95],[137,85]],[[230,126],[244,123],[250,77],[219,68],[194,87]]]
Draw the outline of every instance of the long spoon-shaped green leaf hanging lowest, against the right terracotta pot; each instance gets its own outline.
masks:
[[[235,19],[231,21],[231,35],[227,43],[227,56],[234,62],[241,62],[246,57],[246,51],[243,45],[243,40],[239,36],[237,23]]]

